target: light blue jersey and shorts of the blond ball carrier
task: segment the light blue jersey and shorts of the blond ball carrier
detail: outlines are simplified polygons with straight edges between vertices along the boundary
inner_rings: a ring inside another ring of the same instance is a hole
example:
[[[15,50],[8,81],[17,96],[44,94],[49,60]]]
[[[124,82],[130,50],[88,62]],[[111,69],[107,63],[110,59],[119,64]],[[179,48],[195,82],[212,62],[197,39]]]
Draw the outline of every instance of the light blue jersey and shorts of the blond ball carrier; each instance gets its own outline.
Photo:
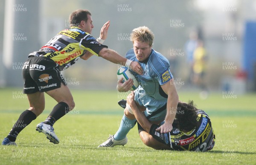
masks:
[[[140,63],[144,70],[143,75],[134,72],[140,86],[134,91],[135,101],[146,107],[145,115],[150,116],[153,112],[159,111],[156,115],[149,118],[150,121],[162,121],[166,116],[167,95],[161,85],[169,82],[173,76],[170,72],[170,64],[159,52],[152,49],[149,57],[141,62],[138,61],[134,49],[130,49],[126,55],[131,61]],[[163,110],[164,109],[164,110]]]

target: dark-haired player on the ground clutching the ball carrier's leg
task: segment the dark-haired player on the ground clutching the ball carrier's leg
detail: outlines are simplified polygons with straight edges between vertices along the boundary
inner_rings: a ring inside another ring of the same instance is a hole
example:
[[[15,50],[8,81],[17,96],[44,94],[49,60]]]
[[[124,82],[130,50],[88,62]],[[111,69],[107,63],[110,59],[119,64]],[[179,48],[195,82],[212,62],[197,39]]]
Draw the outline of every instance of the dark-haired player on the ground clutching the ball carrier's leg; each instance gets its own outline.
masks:
[[[157,124],[151,124],[141,113],[132,92],[127,97],[127,104],[133,110],[138,123],[140,138],[143,143],[154,149],[178,151],[209,151],[215,145],[215,134],[209,116],[198,110],[193,101],[179,102],[173,129],[169,133],[160,133]]]

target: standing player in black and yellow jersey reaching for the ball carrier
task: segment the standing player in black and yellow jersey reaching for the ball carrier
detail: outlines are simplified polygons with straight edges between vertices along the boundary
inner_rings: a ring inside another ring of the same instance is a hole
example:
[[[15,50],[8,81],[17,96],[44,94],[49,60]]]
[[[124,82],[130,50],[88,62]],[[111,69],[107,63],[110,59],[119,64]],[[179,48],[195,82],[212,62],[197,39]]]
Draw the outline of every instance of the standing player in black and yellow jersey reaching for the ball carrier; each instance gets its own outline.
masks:
[[[36,126],[36,130],[44,133],[50,142],[59,143],[52,126],[75,107],[73,96],[60,71],[75,64],[79,58],[87,60],[92,55],[97,55],[115,64],[130,66],[139,74],[143,73],[139,63],[123,58],[108,49],[108,46],[102,45],[107,37],[109,21],[102,27],[100,38],[97,40],[90,35],[94,26],[89,11],[81,9],[74,11],[70,14],[69,22],[70,29],[59,32],[39,51],[30,53],[24,63],[23,93],[27,94],[30,107],[21,113],[2,145],[16,145],[15,140],[20,131],[43,112],[44,92],[54,98],[58,104],[53,107],[47,119]]]

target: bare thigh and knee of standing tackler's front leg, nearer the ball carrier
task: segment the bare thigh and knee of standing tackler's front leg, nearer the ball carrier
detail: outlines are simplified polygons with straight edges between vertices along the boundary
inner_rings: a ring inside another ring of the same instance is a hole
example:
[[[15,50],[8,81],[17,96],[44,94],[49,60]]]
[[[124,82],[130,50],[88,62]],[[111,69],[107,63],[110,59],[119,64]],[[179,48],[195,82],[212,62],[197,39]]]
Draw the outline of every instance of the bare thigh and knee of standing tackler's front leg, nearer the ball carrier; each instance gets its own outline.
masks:
[[[67,87],[67,85],[61,84],[61,87],[46,91],[46,93],[54,98],[58,103],[65,102],[68,104],[69,109],[72,110],[75,107],[75,102],[73,100],[73,96]]]

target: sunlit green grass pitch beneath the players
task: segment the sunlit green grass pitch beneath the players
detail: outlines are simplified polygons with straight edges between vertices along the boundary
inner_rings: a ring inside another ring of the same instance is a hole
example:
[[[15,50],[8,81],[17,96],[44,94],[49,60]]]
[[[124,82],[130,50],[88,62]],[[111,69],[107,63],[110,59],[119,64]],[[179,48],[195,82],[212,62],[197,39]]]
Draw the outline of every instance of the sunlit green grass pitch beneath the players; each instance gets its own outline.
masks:
[[[56,104],[46,95],[44,113],[19,134],[18,146],[0,146],[0,164],[256,164],[256,94],[225,99],[220,92],[201,100],[196,92],[179,92],[180,100],[193,99],[212,121],[215,147],[198,153],[148,148],[140,140],[137,126],[128,133],[124,147],[97,148],[118,129],[123,110],[116,102],[125,96],[116,91],[72,93],[76,108],[54,125],[60,144],[49,143],[44,134],[35,131]],[[29,104],[20,89],[0,89],[0,104],[3,139]]]

